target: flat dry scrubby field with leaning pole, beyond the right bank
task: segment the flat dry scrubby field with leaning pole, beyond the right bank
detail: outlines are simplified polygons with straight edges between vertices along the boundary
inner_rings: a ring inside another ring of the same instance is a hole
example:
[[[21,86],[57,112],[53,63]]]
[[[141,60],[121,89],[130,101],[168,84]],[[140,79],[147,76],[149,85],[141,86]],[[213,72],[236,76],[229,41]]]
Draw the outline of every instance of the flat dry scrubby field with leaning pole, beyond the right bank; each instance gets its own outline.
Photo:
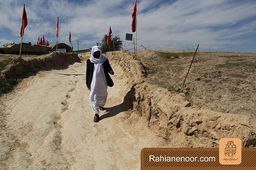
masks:
[[[138,54],[147,71],[146,80],[181,93],[200,107],[256,116],[256,58],[252,53],[198,52],[184,90],[193,52],[148,51]]]

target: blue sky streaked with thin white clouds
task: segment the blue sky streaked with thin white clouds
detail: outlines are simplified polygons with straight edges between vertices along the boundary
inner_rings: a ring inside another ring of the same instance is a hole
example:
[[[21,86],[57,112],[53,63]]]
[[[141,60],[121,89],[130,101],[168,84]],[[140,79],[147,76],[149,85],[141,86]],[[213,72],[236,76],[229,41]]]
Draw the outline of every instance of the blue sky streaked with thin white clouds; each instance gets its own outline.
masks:
[[[28,27],[24,42],[36,43],[43,34],[56,42],[55,26],[60,18],[59,41],[74,49],[89,48],[101,41],[111,25],[114,35],[124,39],[131,33],[133,0],[42,1],[0,0],[0,45],[20,41],[23,4]],[[156,50],[192,50],[256,53],[256,1],[228,0],[138,0],[138,44]],[[127,42],[129,43],[129,42]]]

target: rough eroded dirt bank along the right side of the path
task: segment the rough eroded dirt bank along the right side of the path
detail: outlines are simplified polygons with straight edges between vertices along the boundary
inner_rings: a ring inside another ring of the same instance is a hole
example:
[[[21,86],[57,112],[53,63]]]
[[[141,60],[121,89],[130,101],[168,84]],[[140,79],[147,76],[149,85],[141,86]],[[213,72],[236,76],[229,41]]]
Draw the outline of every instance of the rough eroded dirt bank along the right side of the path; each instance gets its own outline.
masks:
[[[223,137],[238,137],[243,147],[256,146],[255,118],[203,109],[176,93],[143,80],[143,64],[130,53],[107,53],[133,84],[133,110],[145,118],[148,127],[168,142],[169,147],[218,147]],[[177,137],[179,136],[179,137]]]

